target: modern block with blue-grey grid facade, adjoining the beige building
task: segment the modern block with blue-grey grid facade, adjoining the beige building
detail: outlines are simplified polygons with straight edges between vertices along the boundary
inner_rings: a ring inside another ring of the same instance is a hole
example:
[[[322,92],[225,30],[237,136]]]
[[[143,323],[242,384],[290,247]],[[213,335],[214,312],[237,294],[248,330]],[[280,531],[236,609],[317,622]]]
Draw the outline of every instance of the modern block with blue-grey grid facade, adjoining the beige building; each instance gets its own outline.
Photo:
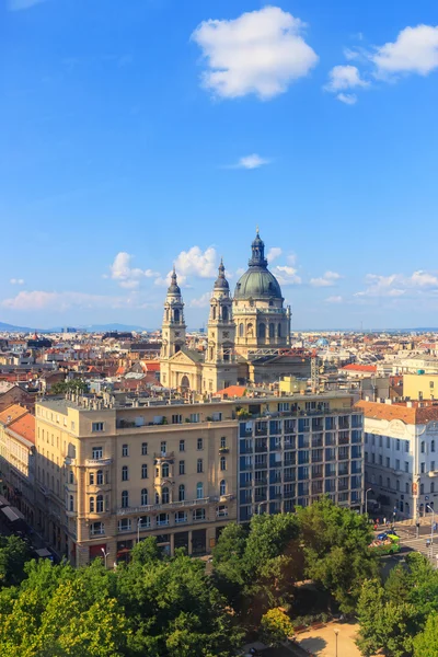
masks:
[[[324,494],[361,508],[362,412],[349,393],[253,400],[239,412],[239,520],[293,511]]]

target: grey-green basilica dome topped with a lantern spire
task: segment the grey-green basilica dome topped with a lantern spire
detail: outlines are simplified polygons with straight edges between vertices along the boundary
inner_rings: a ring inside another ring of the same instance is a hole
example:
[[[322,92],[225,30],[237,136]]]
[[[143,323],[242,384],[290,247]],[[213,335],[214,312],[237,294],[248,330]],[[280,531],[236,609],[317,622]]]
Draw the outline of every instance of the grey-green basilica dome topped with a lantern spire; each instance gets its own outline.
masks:
[[[258,231],[255,240],[251,244],[251,250],[252,257],[249,262],[250,266],[238,280],[234,299],[280,299],[283,301],[278,280],[267,268],[265,244],[261,239]]]

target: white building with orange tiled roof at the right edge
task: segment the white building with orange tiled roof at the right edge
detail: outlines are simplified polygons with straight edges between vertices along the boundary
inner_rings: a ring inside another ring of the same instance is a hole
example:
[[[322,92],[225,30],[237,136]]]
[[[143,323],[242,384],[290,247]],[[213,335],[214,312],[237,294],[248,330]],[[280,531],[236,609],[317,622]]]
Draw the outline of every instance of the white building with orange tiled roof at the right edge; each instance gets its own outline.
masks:
[[[438,405],[387,400],[356,408],[365,415],[366,487],[391,511],[423,516],[438,495]]]

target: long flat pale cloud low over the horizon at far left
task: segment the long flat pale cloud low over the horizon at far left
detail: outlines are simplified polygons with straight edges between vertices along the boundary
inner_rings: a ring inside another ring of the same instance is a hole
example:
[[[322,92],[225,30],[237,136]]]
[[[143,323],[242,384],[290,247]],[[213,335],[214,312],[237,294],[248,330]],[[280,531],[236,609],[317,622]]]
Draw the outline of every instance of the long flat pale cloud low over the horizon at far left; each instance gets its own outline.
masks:
[[[136,301],[134,296],[105,297],[87,292],[46,292],[43,290],[21,291],[11,299],[1,302],[3,308],[13,310],[66,310],[68,308],[124,308]]]

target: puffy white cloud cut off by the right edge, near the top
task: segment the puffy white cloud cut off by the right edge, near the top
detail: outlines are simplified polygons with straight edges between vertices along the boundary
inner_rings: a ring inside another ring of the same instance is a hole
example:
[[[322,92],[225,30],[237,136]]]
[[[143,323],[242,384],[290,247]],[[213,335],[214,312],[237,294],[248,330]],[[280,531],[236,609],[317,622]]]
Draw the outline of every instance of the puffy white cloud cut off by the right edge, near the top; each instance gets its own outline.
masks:
[[[400,73],[427,76],[438,68],[438,25],[417,25],[402,30],[394,43],[377,48],[370,57],[378,78]]]

